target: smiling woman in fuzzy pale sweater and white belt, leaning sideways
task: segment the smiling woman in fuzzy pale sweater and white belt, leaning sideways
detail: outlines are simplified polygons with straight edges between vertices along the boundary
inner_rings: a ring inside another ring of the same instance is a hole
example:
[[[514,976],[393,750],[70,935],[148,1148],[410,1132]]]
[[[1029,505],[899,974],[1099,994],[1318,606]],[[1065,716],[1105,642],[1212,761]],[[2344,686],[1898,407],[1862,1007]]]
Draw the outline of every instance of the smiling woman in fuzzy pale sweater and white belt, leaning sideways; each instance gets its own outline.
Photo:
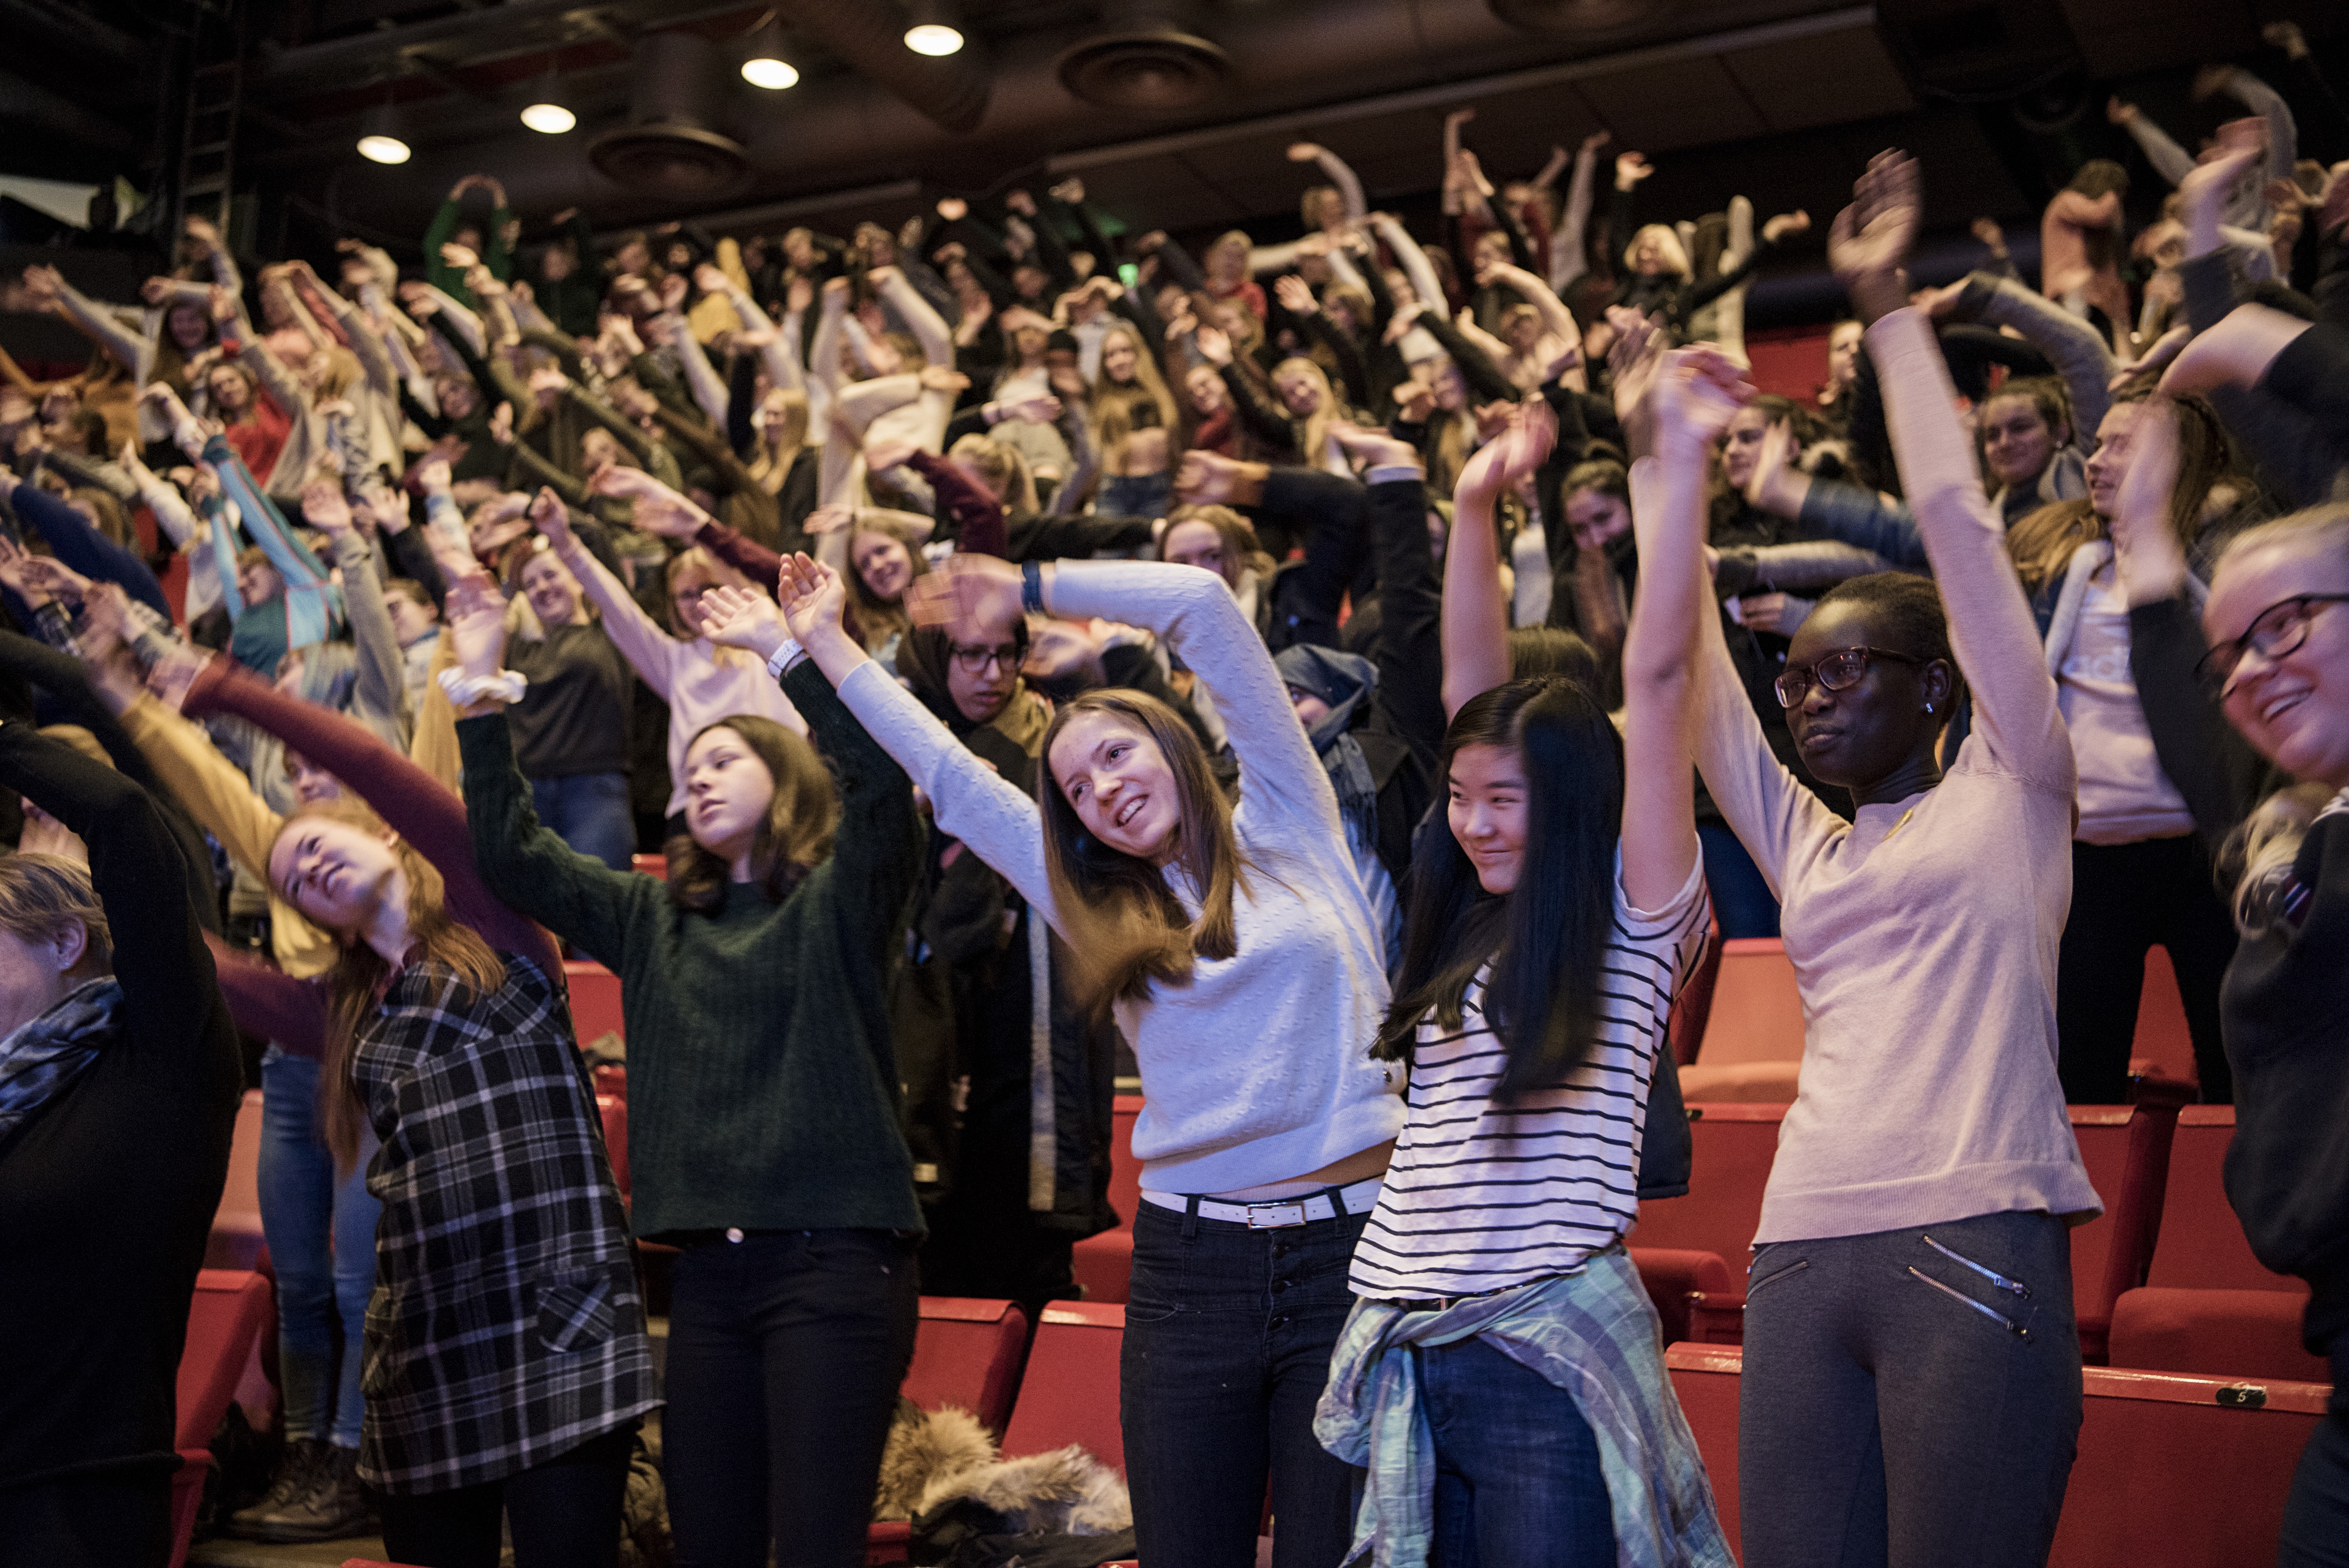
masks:
[[[1313,1441],[1313,1404],[1402,1122],[1393,1073],[1365,1056],[1386,958],[1337,793],[1219,577],[956,556],[933,582],[916,615],[958,643],[1001,646],[1022,613],[1099,615],[1156,631],[1217,692],[1247,777],[1238,807],[1191,728],[1128,690],[1059,707],[1029,796],[839,629],[827,573],[801,559],[787,575],[808,657],[907,763],[940,831],[1043,911],[1078,1000],[1111,1009],[1142,1063],[1120,1394],[1142,1554],[1254,1563],[1271,1481],[1273,1561],[1337,1568],[1353,1476]]]

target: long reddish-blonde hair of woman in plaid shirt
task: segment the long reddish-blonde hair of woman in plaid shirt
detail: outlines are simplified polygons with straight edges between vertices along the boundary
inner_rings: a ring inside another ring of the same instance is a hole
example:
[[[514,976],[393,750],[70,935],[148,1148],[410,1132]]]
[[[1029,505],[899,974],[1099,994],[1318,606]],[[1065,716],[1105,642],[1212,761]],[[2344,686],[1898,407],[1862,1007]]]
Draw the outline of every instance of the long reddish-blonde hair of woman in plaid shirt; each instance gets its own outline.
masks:
[[[291,833],[303,819],[324,817],[362,833],[383,833],[383,819],[359,800],[317,800],[303,805],[277,829],[277,838]],[[270,852],[277,850],[270,840]],[[456,981],[465,991],[463,1002],[472,1002],[505,984],[505,960],[472,927],[449,918],[446,883],[406,838],[392,840],[392,857],[409,880],[409,939],[411,953],[423,948],[423,958],[439,960],[456,969]],[[282,892],[282,890],[280,890]],[[287,899],[291,901],[291,899]],[[350,1061],[359,1049],[359,1033],[383,1005],[383,986],[395,969],[376,948],[336,932],[343,955],[327,969],[327,1052],[317,1077],[319,1124],[327,1129],[327,1148],[334,1164],[348,1171],[359,1162],[362,1120],[359,1089],[350,1082]]]

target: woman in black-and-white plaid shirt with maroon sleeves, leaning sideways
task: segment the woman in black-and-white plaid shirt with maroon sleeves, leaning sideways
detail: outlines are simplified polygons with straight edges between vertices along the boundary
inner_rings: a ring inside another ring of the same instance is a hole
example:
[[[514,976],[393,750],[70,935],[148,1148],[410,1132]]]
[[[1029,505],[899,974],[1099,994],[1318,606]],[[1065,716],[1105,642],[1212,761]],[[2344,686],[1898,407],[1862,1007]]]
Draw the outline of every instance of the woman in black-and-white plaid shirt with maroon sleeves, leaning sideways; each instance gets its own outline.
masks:
[[[503,615],[486,575],[465,592]],[[482,885],[463,803],[399,751],[228,660],[167,660],[157,681],[190,718],[247,718],[364,791],[303,800],[268,850],[270,890],[334,934],[334,965],[294,979],[216,955],[240,1028],[322,1061],[336,1162],[381,1138],[357,1474],[385,1547],[474,1563],[503,1514],[517,1563],[613,1563],[658,1394],[554,944]],[[482,1169],[503,1171],[491,1192]]]

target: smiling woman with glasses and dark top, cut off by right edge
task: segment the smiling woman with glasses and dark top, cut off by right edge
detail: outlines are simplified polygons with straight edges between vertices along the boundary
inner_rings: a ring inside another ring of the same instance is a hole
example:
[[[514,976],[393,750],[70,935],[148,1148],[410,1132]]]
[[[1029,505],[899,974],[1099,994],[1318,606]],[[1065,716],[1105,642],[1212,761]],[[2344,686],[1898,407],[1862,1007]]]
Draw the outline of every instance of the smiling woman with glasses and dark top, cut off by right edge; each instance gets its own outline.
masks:
[[[2163,392],[2260,387],[2318,420],[2349,338],[2243,305],[2187,345]],[[2330,427],[2344,430],[2335,401]],[[2225,836],[2241,941],[2222,1023],[2236,1134],[2227,1199],[2253,1253],[2309,1282],[2302,1343],[2333,1361],[2333,1404],[2283,1507],[2279,1563],[2340,1563],[2349,1540],[2349,507],[2236,535],[2199,606],[2161,528],[2178,453],[2161,444],[2121,486],[2114,538],[2138,683],[2196,822]],[[2300,784],[2293,784],[2300,779]]]

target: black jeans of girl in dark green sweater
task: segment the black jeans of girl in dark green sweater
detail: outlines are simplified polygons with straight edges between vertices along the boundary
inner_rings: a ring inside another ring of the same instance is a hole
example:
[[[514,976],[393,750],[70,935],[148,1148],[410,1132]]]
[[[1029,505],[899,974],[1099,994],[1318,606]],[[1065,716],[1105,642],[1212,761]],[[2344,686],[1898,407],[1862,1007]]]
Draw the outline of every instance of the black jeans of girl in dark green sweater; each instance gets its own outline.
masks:
[[[921,1272],[886,1230],[688,1246],[660,1425],[677,1568],[853,1568],[914,1359]]]

